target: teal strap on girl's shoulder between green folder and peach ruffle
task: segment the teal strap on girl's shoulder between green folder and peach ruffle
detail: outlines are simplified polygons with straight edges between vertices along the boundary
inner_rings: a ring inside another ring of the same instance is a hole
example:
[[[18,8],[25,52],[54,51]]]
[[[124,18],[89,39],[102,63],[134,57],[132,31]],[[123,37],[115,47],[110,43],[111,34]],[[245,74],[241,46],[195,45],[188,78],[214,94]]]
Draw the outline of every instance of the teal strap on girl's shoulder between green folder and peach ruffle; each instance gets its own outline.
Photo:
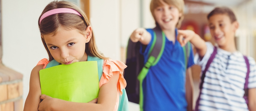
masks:
[[[100,81],[100,78],[103,74],[103,59],[100,59],[98,57],[95,57],[95,56],[89,56],[87,57],[87,61],[97,61],[97,64],[98,64],[98,75],[99,75],[99,81]]]

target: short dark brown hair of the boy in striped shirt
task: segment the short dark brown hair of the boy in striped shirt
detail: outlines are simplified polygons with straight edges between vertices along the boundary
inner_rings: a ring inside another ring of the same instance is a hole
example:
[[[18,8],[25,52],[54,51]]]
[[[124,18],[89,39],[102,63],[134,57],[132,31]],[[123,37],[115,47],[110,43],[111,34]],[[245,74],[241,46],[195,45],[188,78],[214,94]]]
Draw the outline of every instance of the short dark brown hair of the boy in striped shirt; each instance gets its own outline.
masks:
[[[227,16],[229,16],[231,23],[237,21],[235,14],[228,7],[216,7],[208,14],[207,19],[209,20],[211,16],[216,14],[226,14]]]

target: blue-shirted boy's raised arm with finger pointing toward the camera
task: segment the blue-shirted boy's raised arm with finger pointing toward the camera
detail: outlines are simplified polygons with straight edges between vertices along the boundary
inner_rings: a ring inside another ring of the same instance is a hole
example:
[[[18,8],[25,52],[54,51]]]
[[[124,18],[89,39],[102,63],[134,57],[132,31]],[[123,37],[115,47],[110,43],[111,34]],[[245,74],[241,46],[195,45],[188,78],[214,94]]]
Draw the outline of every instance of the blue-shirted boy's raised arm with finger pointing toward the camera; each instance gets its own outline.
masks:
[[[138,28],[132,32],[130,37],[132,42],[140,42],[143,45],[148,45],[151,40],[151,34],[144,28]]]

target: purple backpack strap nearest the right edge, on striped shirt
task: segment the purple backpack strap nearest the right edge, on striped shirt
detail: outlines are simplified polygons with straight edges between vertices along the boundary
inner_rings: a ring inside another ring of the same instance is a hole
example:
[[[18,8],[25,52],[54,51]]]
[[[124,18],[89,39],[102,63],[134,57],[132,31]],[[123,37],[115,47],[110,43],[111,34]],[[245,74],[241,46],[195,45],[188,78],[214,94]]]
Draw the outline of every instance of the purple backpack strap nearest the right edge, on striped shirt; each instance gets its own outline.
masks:
[[[246,77],[245,77],[245,95],[243,96],[245,98],[245,102],[248,105],[248,83],[249,83],[249,74],[250,74],[250,64],[249,64],[249,60],[246,56],[244,56],[245,59],[245,63],[246,63],[246,67],[247,67],[247,73],[246,73]]]

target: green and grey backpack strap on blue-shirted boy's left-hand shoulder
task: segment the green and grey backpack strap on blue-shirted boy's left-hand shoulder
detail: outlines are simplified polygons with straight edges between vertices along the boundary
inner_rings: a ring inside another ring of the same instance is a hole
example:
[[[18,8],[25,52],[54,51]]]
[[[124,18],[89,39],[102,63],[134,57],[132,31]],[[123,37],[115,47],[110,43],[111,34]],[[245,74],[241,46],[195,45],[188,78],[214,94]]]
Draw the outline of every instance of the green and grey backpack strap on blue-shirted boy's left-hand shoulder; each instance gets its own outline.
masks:
[[[146,77],[149,71],[149,68],[151,66],[156,65],[160,60],[165,47],[165,34],[162,32],[162,30],[159,27],[155,27],[153,31],[154,31],[154,36],[152,37],[153,43],[149,50],[148,60],[138,75],[139,87],[140,87],[139,88],[140,111],[143,111],[143,100],[144,100],[142,82]]]

